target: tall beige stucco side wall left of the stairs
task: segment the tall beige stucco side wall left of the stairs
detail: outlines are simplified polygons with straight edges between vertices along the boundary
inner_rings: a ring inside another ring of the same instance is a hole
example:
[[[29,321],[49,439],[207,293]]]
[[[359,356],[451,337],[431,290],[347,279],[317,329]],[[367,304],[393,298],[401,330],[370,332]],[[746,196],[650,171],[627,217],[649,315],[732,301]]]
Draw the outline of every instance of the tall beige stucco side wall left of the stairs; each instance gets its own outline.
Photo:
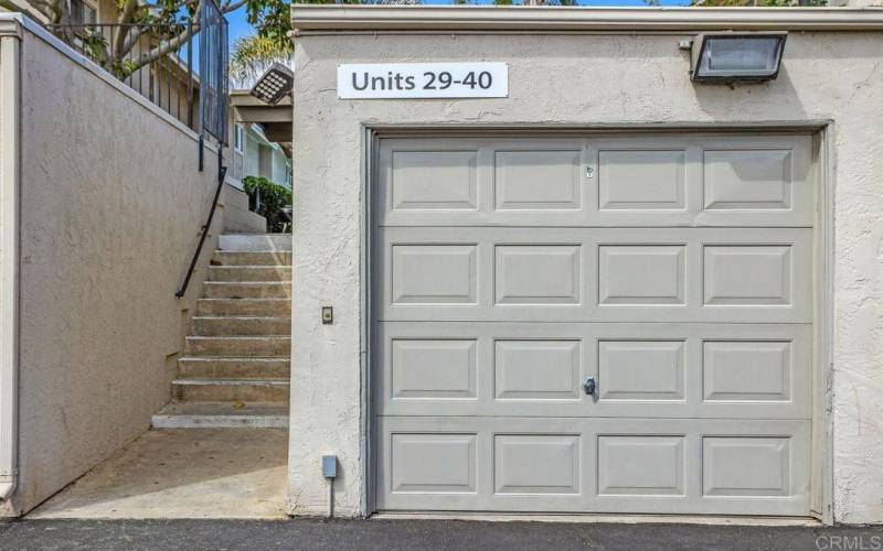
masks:
[[[171,117],[32,32],[21,52],[20,478],[6,514],[169,401],[211,242],[187,296],[174,292],[216,184],[214,153],[198,172],[195,134]]]

